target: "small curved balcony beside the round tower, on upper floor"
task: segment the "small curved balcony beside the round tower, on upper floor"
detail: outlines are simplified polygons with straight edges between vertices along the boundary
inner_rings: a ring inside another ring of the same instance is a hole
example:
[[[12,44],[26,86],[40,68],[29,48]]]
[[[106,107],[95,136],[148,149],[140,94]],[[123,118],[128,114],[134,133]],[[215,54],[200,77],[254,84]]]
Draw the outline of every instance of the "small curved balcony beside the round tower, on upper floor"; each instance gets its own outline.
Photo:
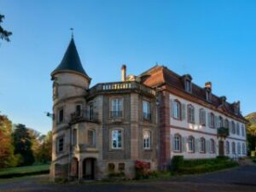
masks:
[[[80,121],[87,121],[92,123],[99,123],[98,113],[90,112],[88,110],[76,111],[71,113],[71,123],[77,123]]]

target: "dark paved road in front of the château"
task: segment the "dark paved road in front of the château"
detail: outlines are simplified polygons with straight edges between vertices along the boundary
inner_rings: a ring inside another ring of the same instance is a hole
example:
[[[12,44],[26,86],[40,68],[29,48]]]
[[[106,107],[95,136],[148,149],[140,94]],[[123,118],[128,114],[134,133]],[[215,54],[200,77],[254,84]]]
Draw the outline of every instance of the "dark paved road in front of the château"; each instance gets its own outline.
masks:
[[[47,182],[47,176],[0,179],[0,191],[13,192],[256,192],[256,166],[197,176],[174,177],[159,181],[125,183],[69,183]]]

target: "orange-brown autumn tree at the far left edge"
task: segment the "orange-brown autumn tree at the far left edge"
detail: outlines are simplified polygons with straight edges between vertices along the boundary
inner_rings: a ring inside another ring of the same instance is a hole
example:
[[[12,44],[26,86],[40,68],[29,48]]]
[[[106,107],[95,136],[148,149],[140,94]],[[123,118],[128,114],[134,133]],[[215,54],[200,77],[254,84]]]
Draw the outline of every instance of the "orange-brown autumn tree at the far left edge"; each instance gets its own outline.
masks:
[[[0,115],[0,168],[16,166],[12,145],[12,122],[5,115]]]

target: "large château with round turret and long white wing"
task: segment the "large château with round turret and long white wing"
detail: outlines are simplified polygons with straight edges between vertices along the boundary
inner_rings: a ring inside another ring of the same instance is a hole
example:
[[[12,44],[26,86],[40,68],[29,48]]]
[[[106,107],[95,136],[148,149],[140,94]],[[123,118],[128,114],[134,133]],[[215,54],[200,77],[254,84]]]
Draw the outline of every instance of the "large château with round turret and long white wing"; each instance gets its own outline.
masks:
[[[135,175],[135,161],[166,170],[174,155],[231,158],[246,155],[246,120],[240,102],[215,96],[166,67],[120,82],[90,87],[73,38],[53,81],[53,150],[50,177],[102,179]]]

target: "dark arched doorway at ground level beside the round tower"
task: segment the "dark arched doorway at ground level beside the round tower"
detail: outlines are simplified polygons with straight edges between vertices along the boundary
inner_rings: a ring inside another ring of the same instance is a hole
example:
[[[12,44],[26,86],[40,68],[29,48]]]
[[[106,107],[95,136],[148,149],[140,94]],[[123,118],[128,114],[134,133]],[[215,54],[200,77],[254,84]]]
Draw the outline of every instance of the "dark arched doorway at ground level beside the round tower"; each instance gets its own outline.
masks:
[[[85,158],[83,161],[83,177],[85,179],[94,179],[96,172],[96,159]]]

